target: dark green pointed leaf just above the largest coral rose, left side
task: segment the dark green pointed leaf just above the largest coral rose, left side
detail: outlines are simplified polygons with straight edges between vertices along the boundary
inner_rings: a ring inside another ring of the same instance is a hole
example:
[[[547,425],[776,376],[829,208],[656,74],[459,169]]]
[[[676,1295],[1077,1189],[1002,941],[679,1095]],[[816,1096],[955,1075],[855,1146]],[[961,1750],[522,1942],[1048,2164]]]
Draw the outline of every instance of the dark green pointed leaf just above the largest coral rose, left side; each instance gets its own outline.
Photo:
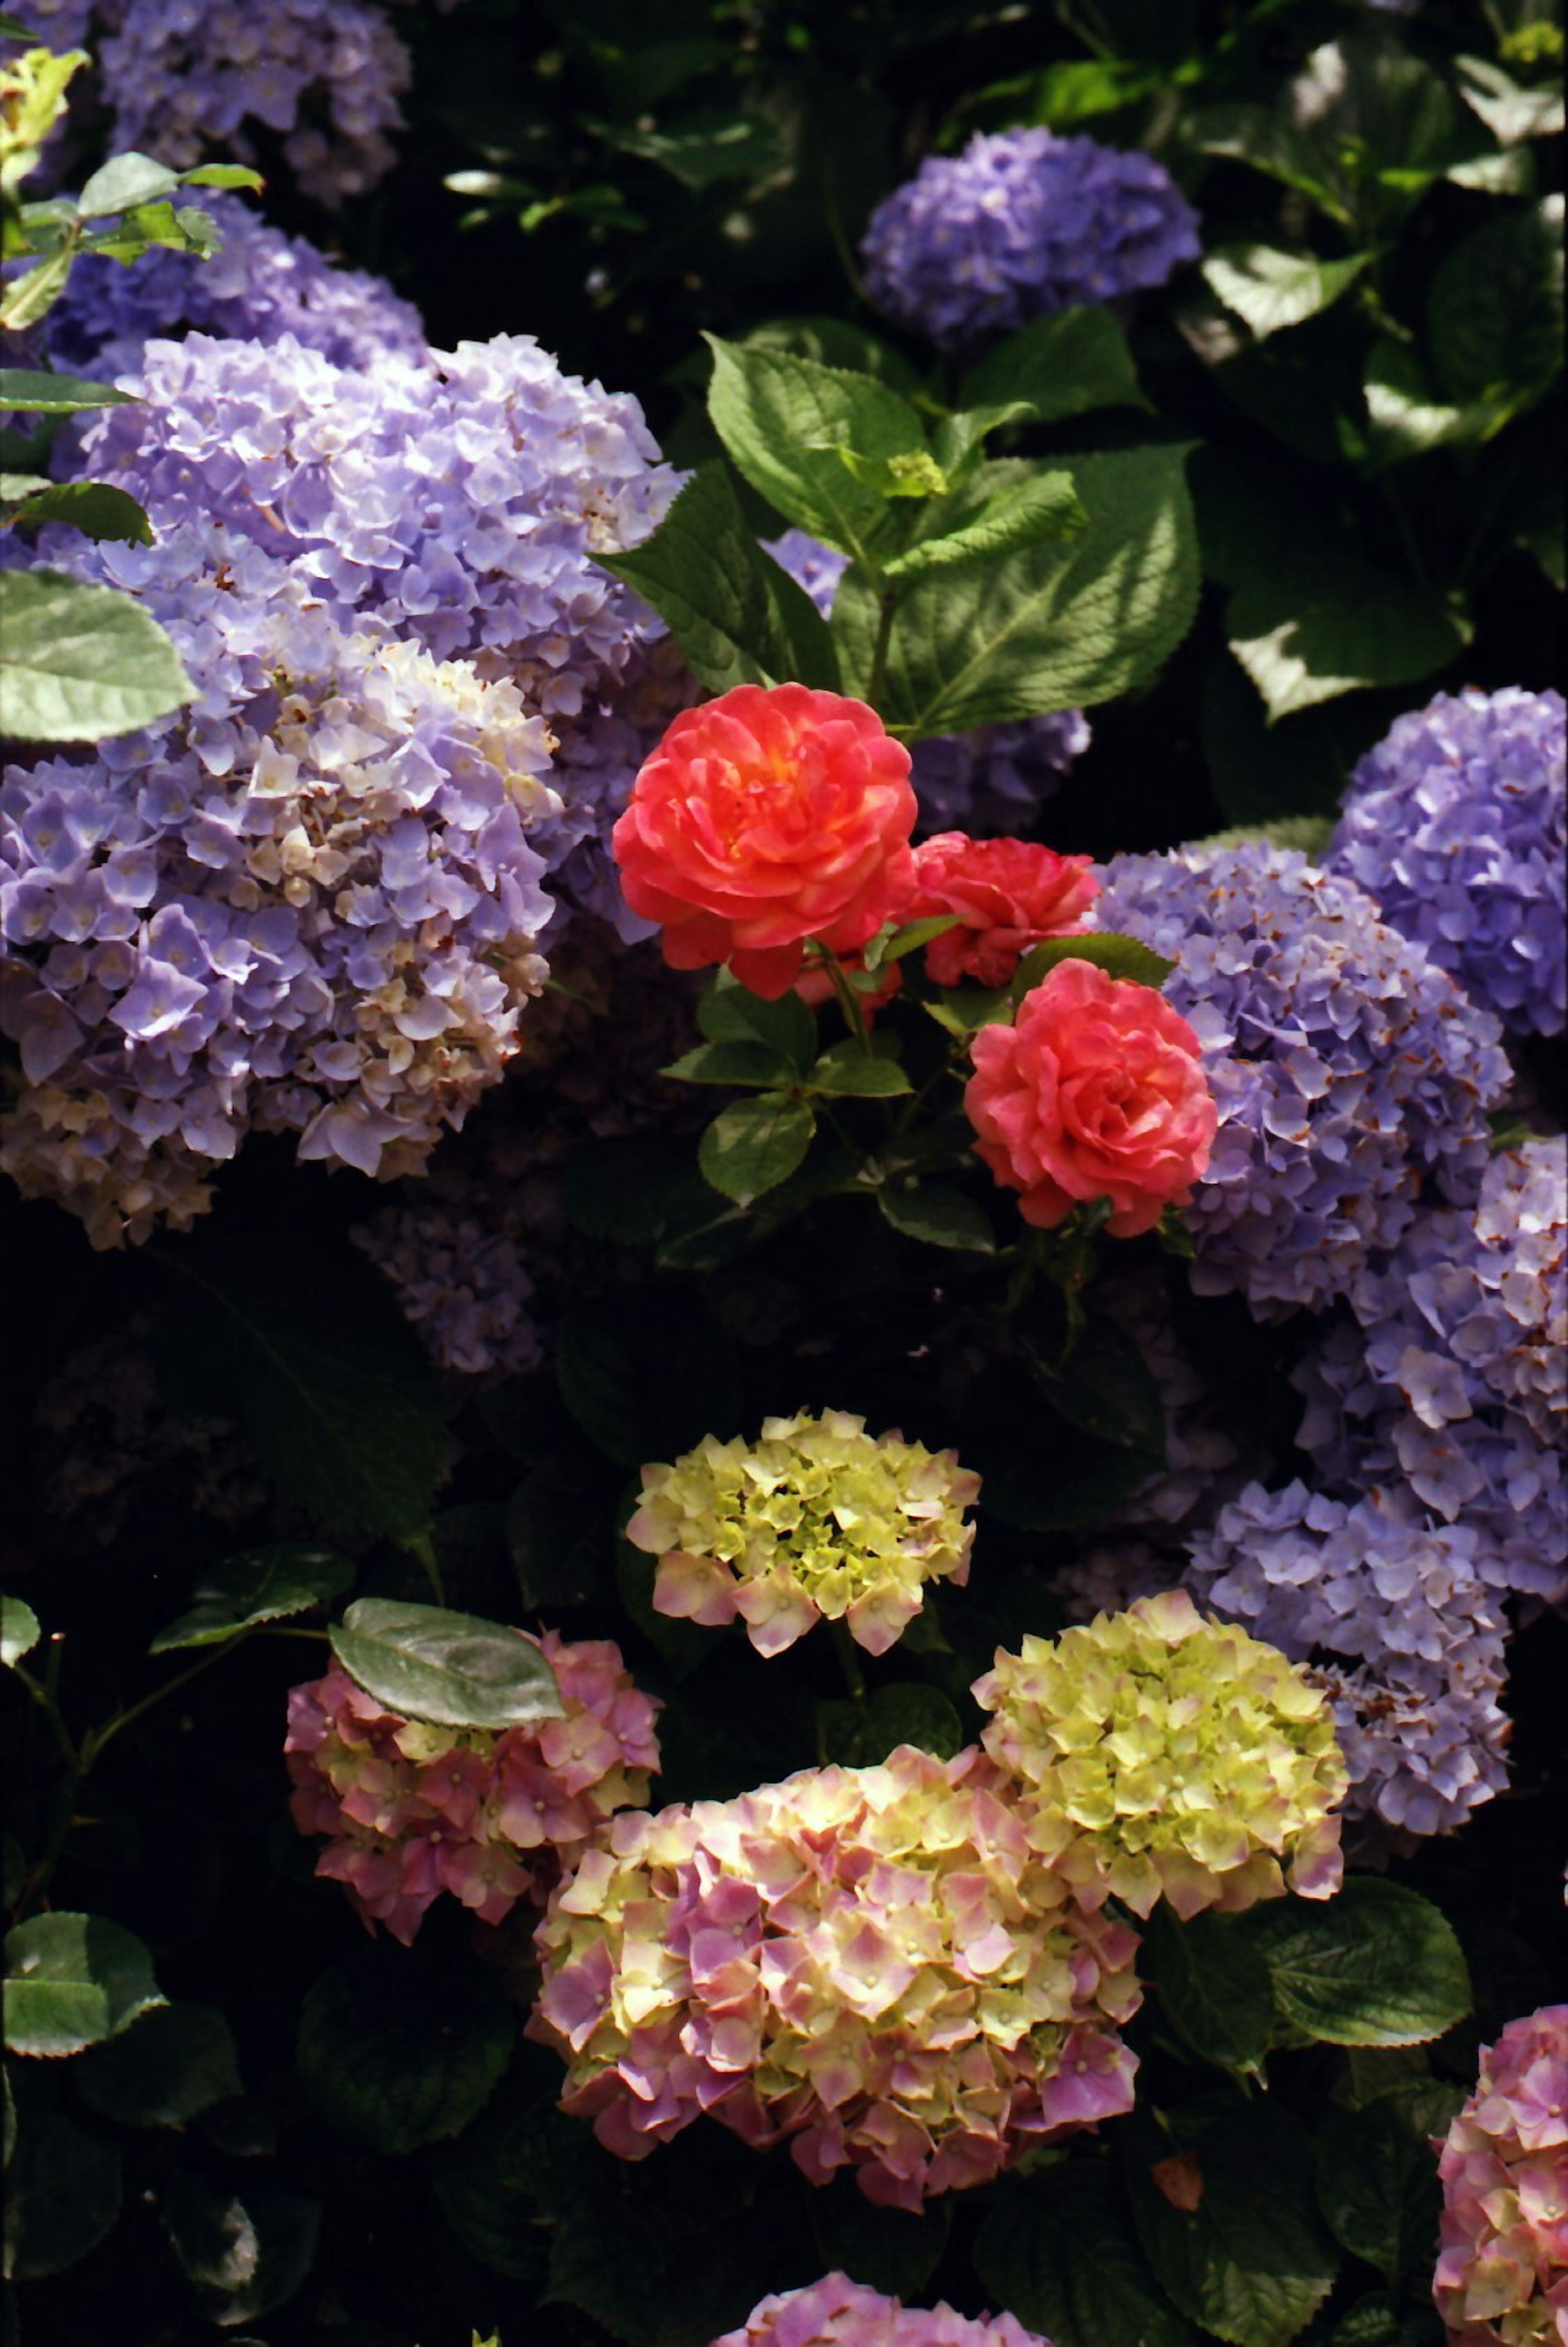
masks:
[[[763,554],[718,460],[697,467],[653,537],[596,561],[653,603],[711,692],[791,681],[836,688],[826,620]]]

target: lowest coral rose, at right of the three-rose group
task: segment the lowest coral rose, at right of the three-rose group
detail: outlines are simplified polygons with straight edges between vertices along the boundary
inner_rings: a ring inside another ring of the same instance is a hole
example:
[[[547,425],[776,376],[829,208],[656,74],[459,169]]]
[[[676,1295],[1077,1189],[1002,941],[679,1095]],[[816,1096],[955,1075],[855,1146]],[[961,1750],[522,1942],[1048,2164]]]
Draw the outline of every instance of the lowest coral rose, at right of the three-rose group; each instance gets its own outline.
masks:
[[[1026,1223],[1054,1230],[1108,1197],[1108,1230],[1134,1239],[1185,1206],[1218,1124],[1197,1035],[1150,986],[1059,962],[1014,1026],[974,1037],[965,1110],[976,1152]]]

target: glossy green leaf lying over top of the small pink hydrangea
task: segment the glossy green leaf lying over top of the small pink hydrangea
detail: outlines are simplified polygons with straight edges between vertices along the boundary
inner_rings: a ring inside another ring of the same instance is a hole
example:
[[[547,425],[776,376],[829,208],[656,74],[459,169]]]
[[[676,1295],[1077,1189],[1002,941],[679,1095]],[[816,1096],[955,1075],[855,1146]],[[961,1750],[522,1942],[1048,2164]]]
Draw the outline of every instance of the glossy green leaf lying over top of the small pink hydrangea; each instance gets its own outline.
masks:
[[[366,1695],[408,1720],[439,1727],[538,1727],[559,1720],[556,1676],[538,1645],[505,1622],[354,1598],[331,1650]]]

